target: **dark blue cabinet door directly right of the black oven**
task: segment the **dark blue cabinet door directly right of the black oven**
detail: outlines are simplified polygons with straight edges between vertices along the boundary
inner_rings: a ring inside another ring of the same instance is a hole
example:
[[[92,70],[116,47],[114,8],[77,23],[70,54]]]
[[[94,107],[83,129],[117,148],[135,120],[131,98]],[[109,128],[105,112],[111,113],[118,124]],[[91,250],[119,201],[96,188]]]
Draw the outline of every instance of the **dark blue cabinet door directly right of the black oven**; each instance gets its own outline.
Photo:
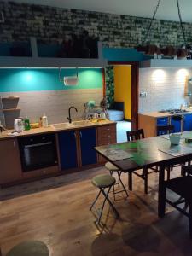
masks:
[[[63,131],[58,136],[61,170],[78,167],[75,131]]]

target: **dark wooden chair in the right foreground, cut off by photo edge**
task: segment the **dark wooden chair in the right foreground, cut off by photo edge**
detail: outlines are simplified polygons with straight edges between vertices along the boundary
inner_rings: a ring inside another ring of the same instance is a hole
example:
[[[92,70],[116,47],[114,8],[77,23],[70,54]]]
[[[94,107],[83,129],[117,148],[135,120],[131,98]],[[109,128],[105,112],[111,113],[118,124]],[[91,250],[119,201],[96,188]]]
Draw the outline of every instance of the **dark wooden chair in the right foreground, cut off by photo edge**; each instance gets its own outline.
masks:
[[[189,236],[192,238],[192,166],[182,166],[183,177],[176,177],[165,182],[163,191],[164,208],[166,202],[189,218]],[[179,195],[177,201],[166,196],[166,189]],[[184,203],[183,207],[181,205]]]

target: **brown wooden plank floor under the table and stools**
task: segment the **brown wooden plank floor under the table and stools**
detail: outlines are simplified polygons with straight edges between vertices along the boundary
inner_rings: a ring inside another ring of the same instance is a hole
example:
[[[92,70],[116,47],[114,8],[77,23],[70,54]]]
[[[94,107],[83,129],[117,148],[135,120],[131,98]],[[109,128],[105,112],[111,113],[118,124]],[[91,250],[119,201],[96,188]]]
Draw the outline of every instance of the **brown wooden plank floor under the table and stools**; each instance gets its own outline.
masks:
[[[114,219],[107,206],[103,227],[96,226],[89,207],[97,189],[90,179],[105,172],[96,168],[1,189],[3,256],[26,240],[44,241],[52,256],[192,255],[188,218],[172,208],[165,218],[157,217],[157,173],[149,175],[148,195],[143,194],[143,181],[134,176],[128,200],[120,193],[115,202],[121,218]]]

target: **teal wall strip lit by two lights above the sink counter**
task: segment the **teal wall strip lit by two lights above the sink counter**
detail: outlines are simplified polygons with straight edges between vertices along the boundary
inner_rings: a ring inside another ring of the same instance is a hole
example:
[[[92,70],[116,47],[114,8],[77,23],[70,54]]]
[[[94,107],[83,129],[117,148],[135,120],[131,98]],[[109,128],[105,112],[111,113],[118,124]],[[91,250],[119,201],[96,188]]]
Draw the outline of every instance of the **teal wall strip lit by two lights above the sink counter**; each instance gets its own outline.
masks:
[[[76,69],[62,69],[61,73],[75,76]],[[78,85],[64,86],[58,69],[0,69],[0,92],[102,88],[102,69],[84,68],[78,73]]]

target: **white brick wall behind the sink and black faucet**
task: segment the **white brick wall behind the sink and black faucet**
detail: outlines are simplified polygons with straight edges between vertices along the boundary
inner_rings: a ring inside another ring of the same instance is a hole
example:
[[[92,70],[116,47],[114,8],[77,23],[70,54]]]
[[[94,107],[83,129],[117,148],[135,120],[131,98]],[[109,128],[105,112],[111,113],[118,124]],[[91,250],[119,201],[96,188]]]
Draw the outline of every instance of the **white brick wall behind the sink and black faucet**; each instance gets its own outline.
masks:
[[[49,124],[54,124],[67,121],[70,106],[78,109],[78,113],[72,110],[72,118],[78,119],[84,112],[85,102],[94,100],[96,105],[99,105],[102,100],[102,88],[12,92],[0,93],[0,96],[19,96],[20,115],[24,118],[27,116],[31,122],[38,122],[39,117],[46,113]]]

